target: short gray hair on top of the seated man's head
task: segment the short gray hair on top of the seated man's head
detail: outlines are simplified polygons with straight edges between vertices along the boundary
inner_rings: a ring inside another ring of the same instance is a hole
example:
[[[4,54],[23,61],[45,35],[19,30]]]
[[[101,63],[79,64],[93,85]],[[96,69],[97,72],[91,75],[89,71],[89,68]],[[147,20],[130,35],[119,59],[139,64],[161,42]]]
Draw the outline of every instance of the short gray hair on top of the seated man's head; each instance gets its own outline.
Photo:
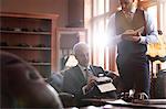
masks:
[[[75,55],[76,53],[79,53],[80,51],[84,50],[84,48],[89,48],[89,46],[87,46],[86,43],[84,43],[84,42],[79,42],[79,43],[76,43],[76,44],[74,45],[74,47],[73,47],[73,53],[74,53],[74,55]]]

